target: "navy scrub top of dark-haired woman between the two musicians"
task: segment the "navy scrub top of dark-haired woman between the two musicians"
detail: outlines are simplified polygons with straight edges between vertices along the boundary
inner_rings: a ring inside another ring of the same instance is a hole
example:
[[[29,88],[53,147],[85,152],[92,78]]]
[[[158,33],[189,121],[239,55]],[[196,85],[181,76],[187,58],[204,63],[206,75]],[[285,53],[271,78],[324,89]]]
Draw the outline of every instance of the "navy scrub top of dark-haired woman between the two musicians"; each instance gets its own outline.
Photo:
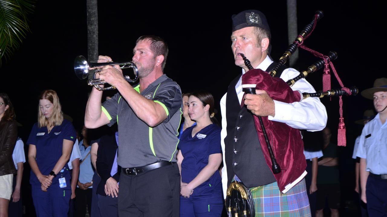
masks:
[[[189,127],[183,132],[178,145],[184,157],[181,173],[182,182],[185,183],[190,183],[207,166],[210,154],[222,153],[221,129],[217,125],[210,124],[192,137],[194,127]],[[197,186],[192,196],[219,197],[222,200],[222,181],[219,172],[216,171],[207,181]]]

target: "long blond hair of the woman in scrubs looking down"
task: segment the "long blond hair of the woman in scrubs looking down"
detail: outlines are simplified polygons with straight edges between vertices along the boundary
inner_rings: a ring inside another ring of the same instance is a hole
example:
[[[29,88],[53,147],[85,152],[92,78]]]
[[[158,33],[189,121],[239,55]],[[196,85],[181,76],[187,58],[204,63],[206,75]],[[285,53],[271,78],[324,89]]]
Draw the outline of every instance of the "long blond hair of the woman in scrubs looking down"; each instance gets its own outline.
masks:
[[[53,104],[52,114],[50,116],[51,124],[54,126],[61,125],[63,122],[63,113],[57,92],[54,90],[45,90],[40,94],[39,100],[48,100]],[[47,124],[48,120],[38,106],[38,127],[46,127]]]

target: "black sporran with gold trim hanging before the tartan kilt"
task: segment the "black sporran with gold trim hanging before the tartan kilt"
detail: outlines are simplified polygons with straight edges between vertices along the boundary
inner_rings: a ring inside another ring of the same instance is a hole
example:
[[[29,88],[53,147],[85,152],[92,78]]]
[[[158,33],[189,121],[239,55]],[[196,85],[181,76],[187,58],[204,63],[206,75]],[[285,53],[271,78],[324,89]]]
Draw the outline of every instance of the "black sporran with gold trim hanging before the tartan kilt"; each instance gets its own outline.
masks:
[[[240,181],[233,181],[227,188],[226,210],[228,217],[254,217],[253,197]]]

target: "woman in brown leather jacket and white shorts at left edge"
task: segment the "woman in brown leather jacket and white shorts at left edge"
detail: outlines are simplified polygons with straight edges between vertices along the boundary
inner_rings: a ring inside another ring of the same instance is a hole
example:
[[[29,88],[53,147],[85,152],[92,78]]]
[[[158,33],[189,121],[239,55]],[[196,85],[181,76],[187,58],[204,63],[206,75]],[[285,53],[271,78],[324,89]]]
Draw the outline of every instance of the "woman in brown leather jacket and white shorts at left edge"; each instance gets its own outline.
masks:
[[[6,93],[0,93],[0,216],[8,216],[12,195],[13,174],[16,173],[12,152],[17,139],[15,112]]]

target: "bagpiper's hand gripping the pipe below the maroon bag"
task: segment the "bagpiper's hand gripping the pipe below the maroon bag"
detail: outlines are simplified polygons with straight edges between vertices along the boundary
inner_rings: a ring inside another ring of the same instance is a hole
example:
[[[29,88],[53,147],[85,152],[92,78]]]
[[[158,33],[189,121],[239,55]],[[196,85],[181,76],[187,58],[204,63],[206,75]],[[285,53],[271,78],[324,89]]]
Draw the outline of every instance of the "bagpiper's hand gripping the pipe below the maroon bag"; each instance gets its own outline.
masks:
[[[243,96],[247,109],[254,115],[262,117],[274,116],[276,112],[273,99],[264,90],[255,90],[255,93],[248,93]]]

